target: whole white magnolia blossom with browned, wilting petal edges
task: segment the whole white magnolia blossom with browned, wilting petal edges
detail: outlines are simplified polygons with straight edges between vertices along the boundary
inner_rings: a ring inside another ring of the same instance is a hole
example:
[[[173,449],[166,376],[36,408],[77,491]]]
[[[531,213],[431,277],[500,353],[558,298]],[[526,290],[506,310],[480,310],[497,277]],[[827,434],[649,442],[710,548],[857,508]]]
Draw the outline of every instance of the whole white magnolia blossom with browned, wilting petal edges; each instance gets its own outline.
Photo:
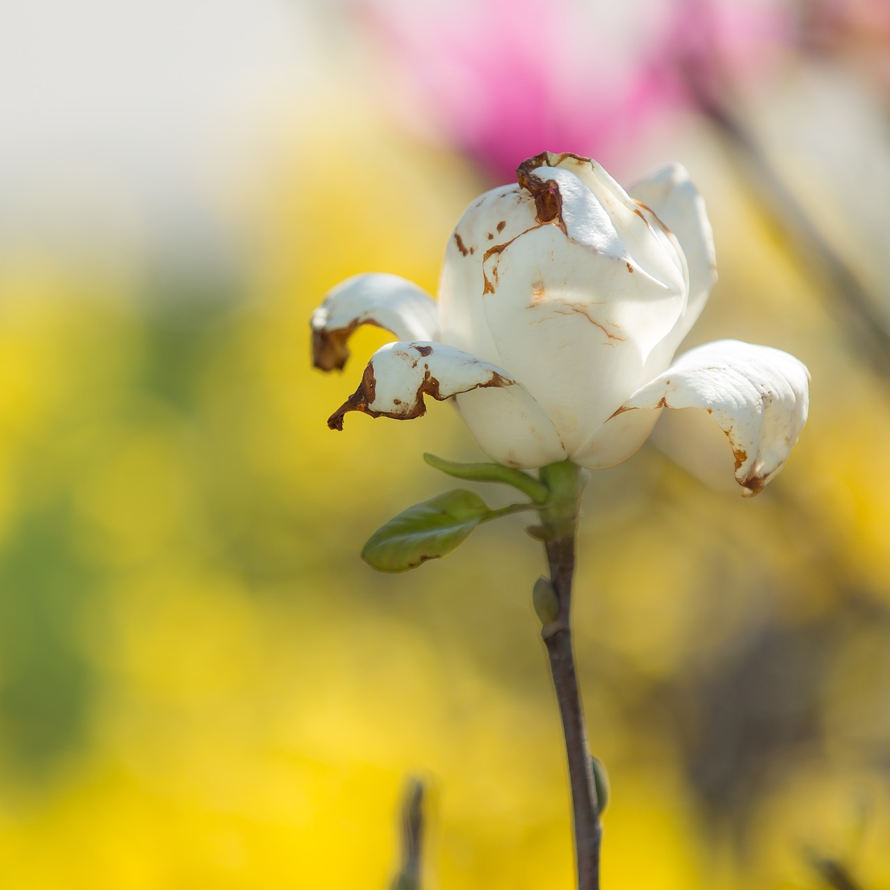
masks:
[[[768,346],[722,340],[674,353],[716,281],[704,202],[681,166],[631,189],[595,161],[549,152],[483,194],[454,230],[438,303],[406,279],[368,274],[312,315],[315,365],[343,368],[361,324],[379,349],[344,415],[408,420],[425,395],[453,398],[500,464],[627,460],[663,408],[708,411],[746,495],[778,473],[805,424],[809,374]],[[673,363],[672,363],[673,362]]]

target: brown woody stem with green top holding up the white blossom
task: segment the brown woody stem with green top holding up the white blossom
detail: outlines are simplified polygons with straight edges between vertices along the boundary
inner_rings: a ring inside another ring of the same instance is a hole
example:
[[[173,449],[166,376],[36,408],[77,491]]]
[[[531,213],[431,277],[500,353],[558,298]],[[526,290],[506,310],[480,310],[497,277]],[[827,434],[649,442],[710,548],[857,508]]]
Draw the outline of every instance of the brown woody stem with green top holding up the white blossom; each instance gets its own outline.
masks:
[[[570,461],[564,461],[542,467],[541,481],[552,495],[550,504],[540,511],[540,517],[550,582],[559,606],[556,618],[544,626],[541,635],[550,659],[569,761],[578,890],[599,890],[602,827],[571,641],[571,581],[575,570],[578,506],[586,481],[585,472]]]

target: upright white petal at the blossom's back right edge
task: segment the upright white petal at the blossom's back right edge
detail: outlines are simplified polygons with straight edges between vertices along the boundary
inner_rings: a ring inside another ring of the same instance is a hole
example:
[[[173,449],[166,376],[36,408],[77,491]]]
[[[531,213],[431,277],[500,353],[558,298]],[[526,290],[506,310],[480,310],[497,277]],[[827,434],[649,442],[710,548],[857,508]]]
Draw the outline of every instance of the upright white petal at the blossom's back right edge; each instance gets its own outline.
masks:
[[[705,202],[680,164],[661,167],[628,191],[674,232],[686,256],[689,303],[682,327],[676,332],[676,349],[700,316],[717,279],[714,233]]]

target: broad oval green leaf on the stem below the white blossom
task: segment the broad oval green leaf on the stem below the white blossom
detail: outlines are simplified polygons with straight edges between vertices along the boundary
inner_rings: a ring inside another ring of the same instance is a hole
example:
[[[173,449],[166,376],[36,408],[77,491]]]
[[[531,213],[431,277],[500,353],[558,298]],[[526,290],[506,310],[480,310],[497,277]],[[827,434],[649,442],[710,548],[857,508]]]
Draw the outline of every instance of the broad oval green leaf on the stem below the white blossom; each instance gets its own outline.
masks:
[[[448,491],[415,504],[377,529],[361,558],[378,571],[407,571],[449,554],[491,511],[473,491]]]

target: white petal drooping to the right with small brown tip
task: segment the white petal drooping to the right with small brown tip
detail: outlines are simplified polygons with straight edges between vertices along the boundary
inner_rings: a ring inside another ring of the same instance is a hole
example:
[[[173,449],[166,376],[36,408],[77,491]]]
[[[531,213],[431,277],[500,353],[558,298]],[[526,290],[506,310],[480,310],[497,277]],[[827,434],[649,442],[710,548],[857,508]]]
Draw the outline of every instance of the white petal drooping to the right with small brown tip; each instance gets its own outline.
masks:
[[[736,481],[750,497],[781,470],[797,442],[809,408],[809,380],[806,366],[788,352],[719,340],[685,352],[616,415],[706,409],[729,438]]]

